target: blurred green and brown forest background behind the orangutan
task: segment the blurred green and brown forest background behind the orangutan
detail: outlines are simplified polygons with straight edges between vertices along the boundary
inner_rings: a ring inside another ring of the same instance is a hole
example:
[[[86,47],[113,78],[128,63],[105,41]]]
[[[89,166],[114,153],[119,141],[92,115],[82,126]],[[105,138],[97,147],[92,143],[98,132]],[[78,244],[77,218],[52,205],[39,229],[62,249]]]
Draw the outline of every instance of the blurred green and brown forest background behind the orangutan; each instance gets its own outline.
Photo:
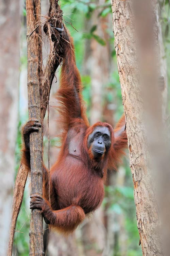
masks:
[[[110,0],[62,0],[61,6],[64,12],[65,24],[74,39],[77,66],[84,86],[83,97],[87,104],[87,115],[90,123],[93,124],[98,120],[102,120],[114,127],[123,114],[123,106],[114,48],[111,2]],[[48,11],[48,7],[49,1],[41,0],[42,20]],[[21,27],[19,49],[20,79],[17,92],[19,95],[19,100],[17,101],[18,120],[17,123],[13,124],[17,127],[15,176],[21,156],[21,127],[28,120],[26,10],[24,0],[20,1],[19,18],[21,19]],[[159,21],[162,26],[167,66],[169,66],[169,1],[161,1]],[[15,25],[15,20],[13,20],[13,23]],[[48,50],[49,45],[43,34],[44,63],[46,62]],[[57,112],[54,107],[56,105],[55,92],[60,81],[59,75],[60,68],[56,72],[57,83],[55,83],[56,79],[54,78],[55,81],[53,81],[51,89],[49,129],[47,117],[44,122],[44,161],[48,166],[49,132],[50,167],[56,160],[58,153],[56,146],[59,144],[57,134],[60,131],[60,127],[57,126]],[[169,71],[166,75],[169,81]],[[170,108],[170,105],[168,108]],[[17,256],[29,255],[29,196],[29,181],[27,181],[14,237],[13,252]],[[44,227],[46,229],[46,226]],[[45,234],[47,231],[45,230]],[[133,181],[127,152],[118,171],[108,173],[102,207],[89,219],[86,219],[79,229],[68,238],[63,238],[51,231],[48,238],[47,255],[141,256],[141,247],[138,244],[139,234],[136,225]]]

